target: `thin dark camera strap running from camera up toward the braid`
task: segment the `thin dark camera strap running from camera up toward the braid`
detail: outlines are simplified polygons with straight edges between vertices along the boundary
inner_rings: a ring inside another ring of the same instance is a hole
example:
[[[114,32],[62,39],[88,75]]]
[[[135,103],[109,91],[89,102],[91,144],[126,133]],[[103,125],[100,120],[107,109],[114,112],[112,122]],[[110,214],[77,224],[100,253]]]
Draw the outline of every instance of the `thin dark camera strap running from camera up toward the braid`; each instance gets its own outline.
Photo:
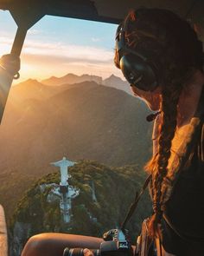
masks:
[[[137,208],[137,204],[138,204],[138,201],[140,200],[141,196],[143,195],[146,187],[148,186],[149,182],[151,180],[151,174],[147,177],[147,179],[144,181],[143,183],[143,187],[141,188],[140,192],[136,193],[136,196],[135,196],[135,200],[133,201],[133,203],[131,204],[131,207],[124,219],[124,222],[123,224],[121,225],[121,230],[124,231],[125,229],[125,225],[126,223],[128,222],[128,220],[131,219],[131,215],[135,212],[135,209]]]

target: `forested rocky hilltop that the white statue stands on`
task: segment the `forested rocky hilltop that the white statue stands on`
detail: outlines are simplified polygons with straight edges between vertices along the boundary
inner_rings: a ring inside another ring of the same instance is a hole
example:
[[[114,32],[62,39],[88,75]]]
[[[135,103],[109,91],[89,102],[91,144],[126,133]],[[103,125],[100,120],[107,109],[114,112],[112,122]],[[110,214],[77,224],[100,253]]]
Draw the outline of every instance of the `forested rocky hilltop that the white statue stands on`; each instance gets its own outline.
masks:
[[[20,255],[25,242],[36,233],[102,237],[103,233],[124,221],[135,192],[142,187],[145,178],[137,166],[113,168],[95,161],[80,161],[69,167],[72,175],[69,183],[80,188],[80,194],[72,200],[71,221],[65,223],[60,210],[61,198],[53,194],[53,186],[56,185],[52,184],[59,184],[59,173],[43,176],[19,201],[10,223],[10,255]],[[143,194],[136,213],[126,226],[132,243],[140,232],[141,221],[150,215],[150,208],[150,199]]]

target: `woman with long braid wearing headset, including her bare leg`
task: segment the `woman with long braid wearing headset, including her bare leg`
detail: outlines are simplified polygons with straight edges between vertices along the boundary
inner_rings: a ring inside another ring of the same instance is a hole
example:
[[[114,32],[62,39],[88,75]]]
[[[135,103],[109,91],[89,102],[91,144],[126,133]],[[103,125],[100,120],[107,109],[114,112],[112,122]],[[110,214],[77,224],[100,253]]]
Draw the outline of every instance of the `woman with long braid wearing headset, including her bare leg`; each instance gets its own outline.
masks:
[[[150,235],[162,242],[158,255],[204,255],[202,44],[172,12],[140,9],[118,27],[115,63],[134,94],[158,110],[153,156],[146,167],[152,174]],[[96,248],[100,242],[42,234],[29,240],[22,256],[61,255],[66,246]],[[92,252],[86,249],[84,254]]]

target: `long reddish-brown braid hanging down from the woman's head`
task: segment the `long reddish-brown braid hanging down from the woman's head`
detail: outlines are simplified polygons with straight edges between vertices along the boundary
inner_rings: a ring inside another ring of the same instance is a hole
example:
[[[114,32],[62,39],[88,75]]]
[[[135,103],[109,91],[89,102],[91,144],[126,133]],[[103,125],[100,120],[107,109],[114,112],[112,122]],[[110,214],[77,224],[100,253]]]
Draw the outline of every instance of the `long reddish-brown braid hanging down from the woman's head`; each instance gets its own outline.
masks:
[[[155,214],[150,220],[150,235],[156,236],[158,233],[157,224],[163,216],[162,185],[163,179],[168,173],[168,162],[170,157],[171,141],[175,135],[177,105],[181,94],[181,86],[166,86],[162,92],[162,123],[160,125],[160,136],[158,138],[158,154],[156,169],[154,170],[153,188],[153,209]]]

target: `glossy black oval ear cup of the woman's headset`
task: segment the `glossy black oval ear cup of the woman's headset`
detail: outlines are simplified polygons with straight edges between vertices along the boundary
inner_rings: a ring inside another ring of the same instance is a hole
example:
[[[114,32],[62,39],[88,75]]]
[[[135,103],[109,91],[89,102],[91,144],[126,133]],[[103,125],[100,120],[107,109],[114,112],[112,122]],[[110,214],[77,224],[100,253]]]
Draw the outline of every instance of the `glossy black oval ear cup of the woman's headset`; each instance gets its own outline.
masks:
[[[120,69],[131,85],[145,91],[153,91],[158,86],[156,72],[150,63],[137,55],[127,54],[120,59]]]

